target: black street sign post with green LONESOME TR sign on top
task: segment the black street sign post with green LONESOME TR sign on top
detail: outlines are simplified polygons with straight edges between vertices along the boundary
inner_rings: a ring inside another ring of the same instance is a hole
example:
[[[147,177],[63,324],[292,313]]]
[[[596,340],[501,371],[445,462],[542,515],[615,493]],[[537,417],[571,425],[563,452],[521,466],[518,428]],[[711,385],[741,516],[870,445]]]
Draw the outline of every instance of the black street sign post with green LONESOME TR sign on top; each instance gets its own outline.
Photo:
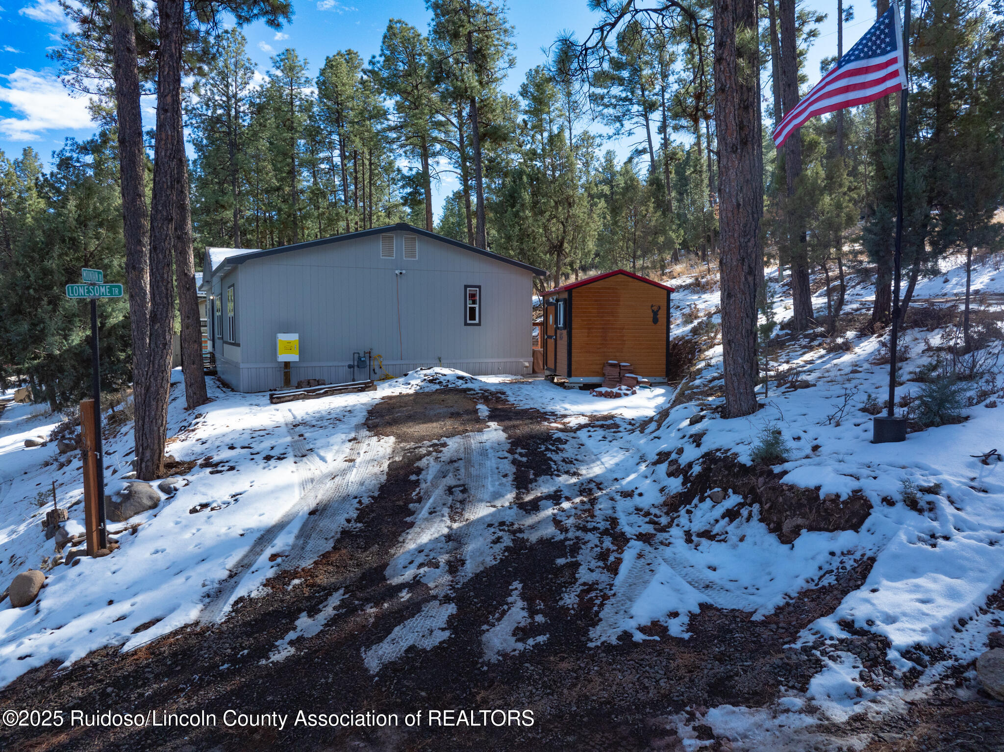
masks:
[[[97,350],[97,299],[121,297],[122,286],[120,284],[104,284],[104,272],[100,269],[81,269],[80,278],[85,284],[66,285],[66,297],[90,300],[90,381],[93,393],[93,438],[91,442],[87,443],[86,449],[90,455],[87,460],[92,461],[89,465],[92,468],[92,477],[89,482],[84,484],[84,495],[86,496],[89,491],[91,495],[97,496],[96,499],[91,499],[88,502],[97,508],[97,540],[92,542],[88,536],[87,541],[87,551],[93,554],[94,550],[108,547],[104,511],[104,456],[101,446],[101,362]],[[87,461],[84,464],[87,465]]]

